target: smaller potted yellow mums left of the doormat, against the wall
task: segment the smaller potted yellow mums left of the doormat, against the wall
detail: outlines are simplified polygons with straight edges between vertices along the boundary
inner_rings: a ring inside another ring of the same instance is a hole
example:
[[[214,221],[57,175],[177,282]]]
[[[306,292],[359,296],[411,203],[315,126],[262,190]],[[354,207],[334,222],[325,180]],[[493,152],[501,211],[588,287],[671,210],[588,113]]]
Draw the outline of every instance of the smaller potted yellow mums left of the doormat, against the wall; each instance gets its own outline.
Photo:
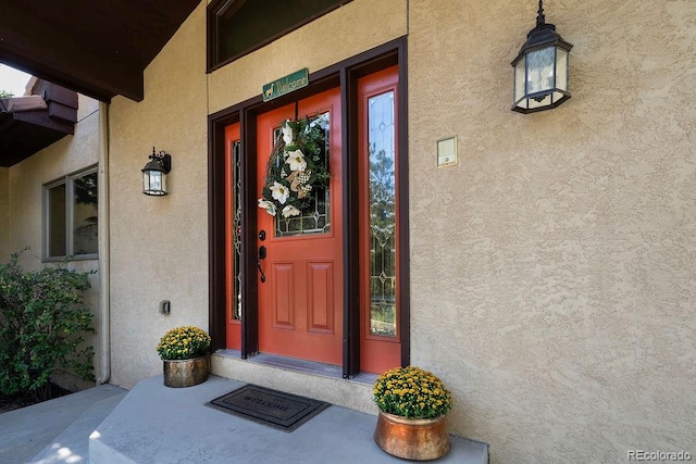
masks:
[[[191,387],[208,379],[210,336],[195,326],[169,330],[157,346],[164,367],[164,385]]]

